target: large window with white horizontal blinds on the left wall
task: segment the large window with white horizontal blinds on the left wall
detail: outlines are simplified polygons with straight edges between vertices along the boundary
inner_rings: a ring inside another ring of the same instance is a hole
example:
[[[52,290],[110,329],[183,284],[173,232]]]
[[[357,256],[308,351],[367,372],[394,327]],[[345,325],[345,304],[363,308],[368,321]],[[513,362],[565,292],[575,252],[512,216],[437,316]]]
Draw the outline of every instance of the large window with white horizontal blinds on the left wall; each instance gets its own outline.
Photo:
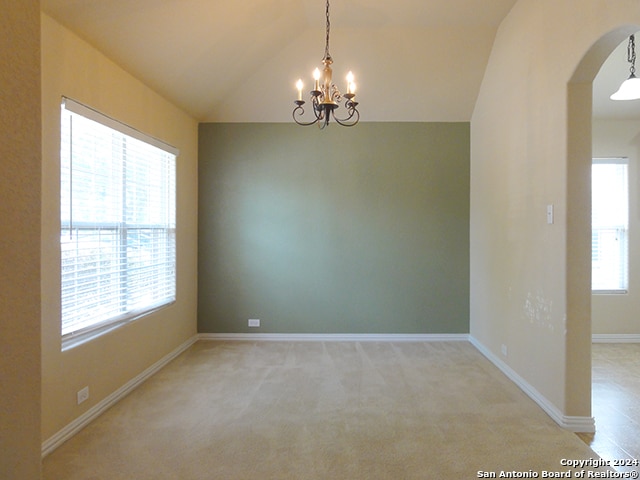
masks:
[[[175,300],[177,150],[73,100],[61,110],[65,348]]]

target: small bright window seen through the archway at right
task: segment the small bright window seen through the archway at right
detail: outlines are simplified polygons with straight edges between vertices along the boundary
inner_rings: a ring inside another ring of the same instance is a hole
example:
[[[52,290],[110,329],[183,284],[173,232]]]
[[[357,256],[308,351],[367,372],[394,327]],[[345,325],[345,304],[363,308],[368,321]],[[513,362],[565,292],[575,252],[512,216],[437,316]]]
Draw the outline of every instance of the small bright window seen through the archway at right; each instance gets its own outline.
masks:
[[[594,159],[591,175],[591,288],[626,293],[629,189],[626,158]]]

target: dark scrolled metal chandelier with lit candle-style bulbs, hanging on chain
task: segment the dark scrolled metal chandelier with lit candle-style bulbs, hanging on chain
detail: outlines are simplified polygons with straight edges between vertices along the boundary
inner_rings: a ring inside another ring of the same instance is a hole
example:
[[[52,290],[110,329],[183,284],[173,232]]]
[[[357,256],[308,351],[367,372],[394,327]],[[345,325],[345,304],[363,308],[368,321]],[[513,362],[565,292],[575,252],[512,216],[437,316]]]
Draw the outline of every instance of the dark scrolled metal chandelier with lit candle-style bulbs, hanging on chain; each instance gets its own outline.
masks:
[[[353,73],[349,72],[347,75],[347,93],[340,93],[338,87],[332,82],[332,70],[331,64],[333,59],[329,53],[329,30],[331,28],[331,22],[329,21],[329,0],[327,0],[327,30],[326,30],[326,43],[324,47],[324,58],[322,64],[324,68],[322,72],[319,69],[315,69],[313,72],[314,87],[309,93],[311,95],[311,105],[313,107],[313,114],[311,121],[303,121],[305,101],[302,100],[302,79],[298,79],[296,82],[296,88],[298,89],[298,99],[294,101],[296,107],[293,109],[293,120],[298,125],[305,127],[309,125],[318,124],[320,128],[324,128],[329,125],[329,120],[333,118],[337,123],[344,127],[352,127],[360,120],[360,112],[358,112],[358,102],[355,101],[356,96],[356,84],[353,82]],[[339,104],[344,99],[344,106],[347,109],[345,117],[337,117],[335,110],[339,107]]]

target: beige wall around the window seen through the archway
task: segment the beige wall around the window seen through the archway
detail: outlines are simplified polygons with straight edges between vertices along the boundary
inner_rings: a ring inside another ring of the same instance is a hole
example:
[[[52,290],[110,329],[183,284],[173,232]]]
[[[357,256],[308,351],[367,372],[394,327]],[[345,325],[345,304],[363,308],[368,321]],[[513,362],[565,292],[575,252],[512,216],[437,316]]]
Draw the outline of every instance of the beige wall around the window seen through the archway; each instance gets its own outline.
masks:
[[[640,121],[594,120],[593,156],[629,159],[629,292],[624,295],[593,295],[592,332],[595,334],[640,333]]]

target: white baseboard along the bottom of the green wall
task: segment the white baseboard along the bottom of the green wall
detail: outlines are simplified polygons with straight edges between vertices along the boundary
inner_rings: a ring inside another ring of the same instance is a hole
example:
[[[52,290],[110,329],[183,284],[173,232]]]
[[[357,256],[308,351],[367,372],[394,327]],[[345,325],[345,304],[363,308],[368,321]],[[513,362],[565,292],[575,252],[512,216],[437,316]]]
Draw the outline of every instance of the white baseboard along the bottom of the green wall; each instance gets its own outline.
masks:
[[[467,333],[200,333],[199,340],[276,342],[468,342]]]

